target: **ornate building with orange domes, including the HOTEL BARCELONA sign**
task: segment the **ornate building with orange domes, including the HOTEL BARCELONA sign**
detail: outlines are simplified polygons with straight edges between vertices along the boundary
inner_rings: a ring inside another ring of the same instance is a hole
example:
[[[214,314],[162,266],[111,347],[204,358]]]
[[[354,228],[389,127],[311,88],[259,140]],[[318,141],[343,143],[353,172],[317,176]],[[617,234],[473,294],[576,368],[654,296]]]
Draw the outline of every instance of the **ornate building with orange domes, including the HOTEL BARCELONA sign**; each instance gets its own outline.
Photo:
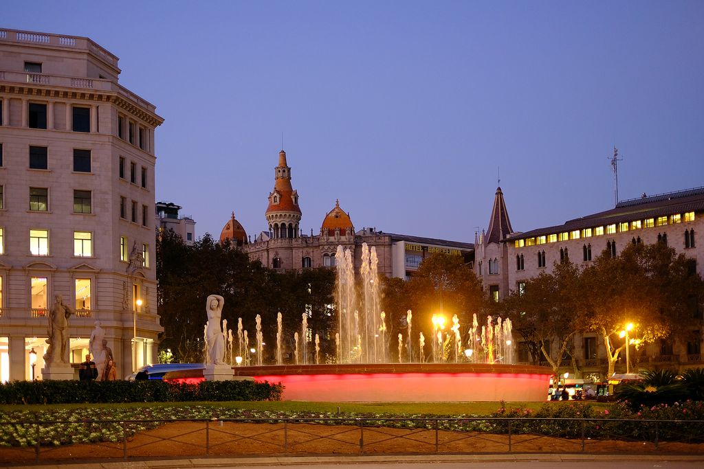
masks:
[[[320,234],[314,235],[312,231],[310,235],[303,234],[299,229],[302,214],[298,191],[291,186],[291,167],[284,150],[279,152],[274,190],[268,201],[265,212],[268,230],[251,240],[233,213],[220,233],[220,240],[230,238],[250,259],[259,260],[272,269],[333,267],[337,264],[337,247],[341,245],[351,250],[358,270],[362,264],[362,245],[366,243],[377,252],[379,274],[409,278],[422,259],[433,252],[462,255],[469,260],[474,248],[471,243],[384,233],[367,227],[355,231],[349,213],[342,210],[339,200],[323,218]]]

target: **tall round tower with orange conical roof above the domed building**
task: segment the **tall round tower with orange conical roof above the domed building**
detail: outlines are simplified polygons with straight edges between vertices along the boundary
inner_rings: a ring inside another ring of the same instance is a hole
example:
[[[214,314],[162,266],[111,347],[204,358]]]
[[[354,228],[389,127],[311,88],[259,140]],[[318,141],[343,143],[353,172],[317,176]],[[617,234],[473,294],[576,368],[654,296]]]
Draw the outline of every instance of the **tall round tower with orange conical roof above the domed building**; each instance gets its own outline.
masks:
[[[269,194],[266,220],[272,238],[298,238],[301,209],[298,192],[291,186],[291,168],[284,150],[279,152],[279,165],[275,167],[274,191]]]

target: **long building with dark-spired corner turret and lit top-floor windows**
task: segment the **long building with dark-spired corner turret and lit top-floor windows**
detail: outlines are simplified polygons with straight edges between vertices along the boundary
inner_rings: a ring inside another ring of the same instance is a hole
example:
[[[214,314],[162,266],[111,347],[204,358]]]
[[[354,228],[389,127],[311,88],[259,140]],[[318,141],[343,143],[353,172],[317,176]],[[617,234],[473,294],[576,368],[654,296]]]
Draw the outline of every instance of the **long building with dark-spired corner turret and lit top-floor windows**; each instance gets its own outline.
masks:
[[[527,279],[551,272],[556,263],[570,259],[578,266],[593,262],[601,252],[617,256],[629,243],[665,243],[691,259],[692,270],[703,274],[704,188],[694,188],[624,200],[614,208],[565,221],[558,226],[514,232],[503,191],[496,190],[489,228],[474,240],[474,271],[485,290],[498,301],[521,290]],[[662,341],[642,350],[641,361],[662,366],[701,366],[700,340]],[[596,335],[575,339],[577,364],[582,373],[599,374],[605,349]],[[526,353],[519,351],[528,361]],[[603,376],[602,376],[603,378]]]

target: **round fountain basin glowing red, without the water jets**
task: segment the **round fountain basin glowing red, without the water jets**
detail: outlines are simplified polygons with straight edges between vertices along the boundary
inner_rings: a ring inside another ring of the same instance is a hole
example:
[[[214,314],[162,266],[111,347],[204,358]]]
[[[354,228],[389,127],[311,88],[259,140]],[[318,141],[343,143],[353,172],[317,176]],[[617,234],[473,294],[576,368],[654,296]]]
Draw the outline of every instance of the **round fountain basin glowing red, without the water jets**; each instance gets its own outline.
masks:
[[[235,366],[234,375],[282,383],[286,401],[544,401],[551,368],[504,364]]]

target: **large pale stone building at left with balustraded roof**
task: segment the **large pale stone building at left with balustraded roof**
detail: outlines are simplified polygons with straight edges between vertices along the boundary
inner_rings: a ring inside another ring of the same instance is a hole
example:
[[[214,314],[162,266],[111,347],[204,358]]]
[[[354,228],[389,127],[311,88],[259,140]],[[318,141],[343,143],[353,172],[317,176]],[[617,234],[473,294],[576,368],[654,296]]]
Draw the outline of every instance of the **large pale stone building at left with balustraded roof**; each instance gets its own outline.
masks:
[[[0,30],[0,380],[41,378],[47,311],[75,308],[70,361],[96,321],[120,373],[156,358],[153,104],[91,39]]]

